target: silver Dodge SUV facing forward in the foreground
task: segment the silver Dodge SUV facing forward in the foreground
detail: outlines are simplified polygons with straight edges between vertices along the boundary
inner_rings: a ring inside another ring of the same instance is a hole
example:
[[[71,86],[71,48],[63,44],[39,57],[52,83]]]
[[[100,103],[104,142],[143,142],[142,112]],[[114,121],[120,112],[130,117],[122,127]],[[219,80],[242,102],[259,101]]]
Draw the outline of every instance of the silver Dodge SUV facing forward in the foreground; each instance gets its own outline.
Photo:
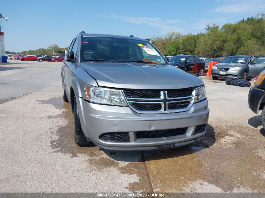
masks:
[[[63,62],[63,100],[74,114],[77,145],[156,150],[204,137],[204,83],[171,66],[150,42],[81,32]]]

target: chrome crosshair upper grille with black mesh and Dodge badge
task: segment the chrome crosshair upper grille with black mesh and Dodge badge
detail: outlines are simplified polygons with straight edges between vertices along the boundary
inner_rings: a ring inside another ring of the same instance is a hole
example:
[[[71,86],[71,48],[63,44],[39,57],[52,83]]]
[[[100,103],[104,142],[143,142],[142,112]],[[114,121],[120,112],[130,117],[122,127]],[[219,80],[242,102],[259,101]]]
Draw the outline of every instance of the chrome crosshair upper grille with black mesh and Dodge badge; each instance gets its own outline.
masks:
[[[142,114],[187,111],[193,105],[195,95],[195,87],[168,90],[125,89],[122,91],[130,108]]]

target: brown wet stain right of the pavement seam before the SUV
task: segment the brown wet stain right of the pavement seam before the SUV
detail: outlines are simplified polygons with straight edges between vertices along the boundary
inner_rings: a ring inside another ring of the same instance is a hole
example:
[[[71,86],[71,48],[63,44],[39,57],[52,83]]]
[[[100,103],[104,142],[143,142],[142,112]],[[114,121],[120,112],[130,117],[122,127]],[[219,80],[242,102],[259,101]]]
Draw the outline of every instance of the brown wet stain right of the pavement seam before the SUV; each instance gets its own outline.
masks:
[[[200,192],[198,185],[192,185],[198,182],[201,188],[205,189],[204,185],[209,184],[224,192],[238,189],[265,191],[265,166],[251,149],[165,150],[146,155],[145,160],[157,192]]]

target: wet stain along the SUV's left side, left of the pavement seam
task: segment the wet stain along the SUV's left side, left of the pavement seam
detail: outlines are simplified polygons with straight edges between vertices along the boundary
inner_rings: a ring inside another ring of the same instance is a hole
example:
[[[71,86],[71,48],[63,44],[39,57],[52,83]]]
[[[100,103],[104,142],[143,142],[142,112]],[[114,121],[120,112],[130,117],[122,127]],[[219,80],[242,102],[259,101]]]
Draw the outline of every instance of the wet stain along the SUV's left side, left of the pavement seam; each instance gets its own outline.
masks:
[[[95,170],[102,171],[108,168],[117,168],[121,174],[137,175],[140,178],[139,182],[129,183],[127,189],[132,192],[152,192],[152,186],[141,152],[113,152],[101,150],[95,145],[78,146],[74,141],[74,117],[70,104],[63,102],[62,97],[41,100],[40,102],[41,104],[52,104],[57,109],[65,109],[60,115],[47,116],[47,118],[63,118],[67,120],[66,125],[57,129],[55,133],[57,139],[50,141],[50,147],[55,150],[55,153],[61,152],[71,157],[87,155],[89,157],[87,162],[93,165]],[[122,166],[124,162],[126,165]]]

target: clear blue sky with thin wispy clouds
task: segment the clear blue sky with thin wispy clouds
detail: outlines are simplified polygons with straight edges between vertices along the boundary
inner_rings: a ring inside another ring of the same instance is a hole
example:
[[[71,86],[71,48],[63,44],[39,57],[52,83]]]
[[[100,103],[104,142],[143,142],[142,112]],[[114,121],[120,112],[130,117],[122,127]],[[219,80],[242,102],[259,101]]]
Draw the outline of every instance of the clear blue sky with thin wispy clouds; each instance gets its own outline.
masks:
[[[235,23],[264,12],[264,0],[45,0],[1,1],[0,13],[8,51],[57,44],[64,48],[86,33],[159,36],[170,31],[205,32],[206,23]]]

